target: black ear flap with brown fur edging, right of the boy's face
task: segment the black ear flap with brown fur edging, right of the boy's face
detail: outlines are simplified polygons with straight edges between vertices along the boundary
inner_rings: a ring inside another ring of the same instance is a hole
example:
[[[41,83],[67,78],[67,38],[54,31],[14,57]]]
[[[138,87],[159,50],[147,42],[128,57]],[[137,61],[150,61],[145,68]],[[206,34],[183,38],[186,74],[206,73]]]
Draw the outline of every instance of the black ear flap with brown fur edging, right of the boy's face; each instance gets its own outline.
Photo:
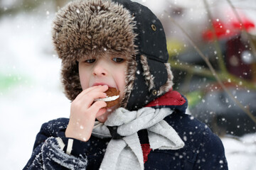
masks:
[[[132,85],[132,91],[129,89],[128,100],[123,100],[124,105],[129,111],[134,111],[149,102],[171,90],[172,74],[169,63],[151,60],[146,55],[136,56],[137,67],[129,67],[133,74],[127,74],[129,78],[128,86]],[[129,73],[129,72],[128,72]],[[130,77],[131,76],[131,77]]]

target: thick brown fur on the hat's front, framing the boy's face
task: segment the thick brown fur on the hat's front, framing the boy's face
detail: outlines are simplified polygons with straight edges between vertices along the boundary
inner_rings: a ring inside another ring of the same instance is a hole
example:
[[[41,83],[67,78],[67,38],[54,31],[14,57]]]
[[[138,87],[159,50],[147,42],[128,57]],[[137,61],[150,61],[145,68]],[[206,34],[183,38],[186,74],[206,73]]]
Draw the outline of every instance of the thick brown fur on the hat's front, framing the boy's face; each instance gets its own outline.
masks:
[[[100,57],[103,53],[122,55],[127,57],[129,67],[136,70],[135,24],[126,8],[107,0],[72,1],[57,13],[53,21],[53,43],[62,60],[65,94],[71,101],[82,91],[77,64],[82,58]],[[132,74],[135,73],[127,71],[123,105],[132,91],[129,77]]]

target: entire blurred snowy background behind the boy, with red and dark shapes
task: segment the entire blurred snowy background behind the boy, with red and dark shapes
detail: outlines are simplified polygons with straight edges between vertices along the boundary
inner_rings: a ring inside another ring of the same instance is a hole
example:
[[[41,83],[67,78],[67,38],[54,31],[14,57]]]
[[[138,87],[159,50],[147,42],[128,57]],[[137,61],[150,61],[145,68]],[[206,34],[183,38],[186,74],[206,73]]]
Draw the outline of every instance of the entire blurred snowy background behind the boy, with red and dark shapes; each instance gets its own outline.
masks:
[[[223,141],[229,169],[255,170],[256,1],[141,0],[167,36],[174,90]],[[42,123],[69,117],[51,41],[68,0],[0,1],[1,169],[22,169]],[[210,66],[209,66],[210,64]]]

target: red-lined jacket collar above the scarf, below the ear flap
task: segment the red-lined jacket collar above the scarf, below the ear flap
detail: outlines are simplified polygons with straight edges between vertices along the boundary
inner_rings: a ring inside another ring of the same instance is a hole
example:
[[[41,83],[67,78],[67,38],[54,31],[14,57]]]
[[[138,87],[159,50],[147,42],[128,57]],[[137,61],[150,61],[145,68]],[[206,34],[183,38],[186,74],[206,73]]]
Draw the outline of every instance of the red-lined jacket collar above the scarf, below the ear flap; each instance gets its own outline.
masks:
[[[186,113],[186,108],[188,108],[188,100],[185,96],[178,93],[178,91],[168,91],[163,96],[156,98],[151,101],[145,107],[151,108],[171,108],[178,113]]]

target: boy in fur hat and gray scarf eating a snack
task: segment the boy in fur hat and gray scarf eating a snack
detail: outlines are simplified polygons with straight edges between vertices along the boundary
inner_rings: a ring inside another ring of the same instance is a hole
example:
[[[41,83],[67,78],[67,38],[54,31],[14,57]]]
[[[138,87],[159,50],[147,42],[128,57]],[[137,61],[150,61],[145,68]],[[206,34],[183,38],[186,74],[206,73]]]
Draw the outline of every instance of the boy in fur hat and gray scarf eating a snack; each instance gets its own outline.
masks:
[[[70,119],[42,125],[24,169],[228,169],[220,139],[172,91],[164,29],[129,0],[73,1],[57,14]],[[120,91],[106,108],[105,91]]]

